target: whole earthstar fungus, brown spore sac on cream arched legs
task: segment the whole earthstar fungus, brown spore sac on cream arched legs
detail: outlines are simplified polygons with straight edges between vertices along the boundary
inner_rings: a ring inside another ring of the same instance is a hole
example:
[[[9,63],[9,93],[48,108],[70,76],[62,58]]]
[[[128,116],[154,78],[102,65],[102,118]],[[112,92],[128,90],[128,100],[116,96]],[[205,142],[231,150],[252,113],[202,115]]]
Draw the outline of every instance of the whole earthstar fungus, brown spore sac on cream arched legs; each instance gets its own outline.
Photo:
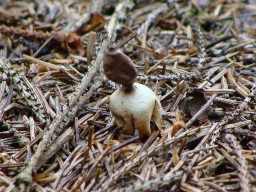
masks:
[[[138,70],[133,61],[121,51],[110,48],[103,68],[111,81],[122,85],[110,96],[109,106],[117,126],[123,127],[124,134],[133,135],[137,129],[142,138],[149,137],[151,119],[161,131],[161,103],[147,86],[134,83]]]

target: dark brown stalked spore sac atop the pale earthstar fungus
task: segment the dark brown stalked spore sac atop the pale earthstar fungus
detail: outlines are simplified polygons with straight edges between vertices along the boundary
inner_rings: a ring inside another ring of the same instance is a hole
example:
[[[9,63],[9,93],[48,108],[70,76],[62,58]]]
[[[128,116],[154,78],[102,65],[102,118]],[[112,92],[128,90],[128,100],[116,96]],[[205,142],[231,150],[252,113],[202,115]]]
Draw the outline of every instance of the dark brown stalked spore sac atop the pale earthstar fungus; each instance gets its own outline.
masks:
[[[128,56],[115,48],[109,48],[103,62],[103,68],[111,81],[122,84],[126,91],[133,90],[138,70]]]

